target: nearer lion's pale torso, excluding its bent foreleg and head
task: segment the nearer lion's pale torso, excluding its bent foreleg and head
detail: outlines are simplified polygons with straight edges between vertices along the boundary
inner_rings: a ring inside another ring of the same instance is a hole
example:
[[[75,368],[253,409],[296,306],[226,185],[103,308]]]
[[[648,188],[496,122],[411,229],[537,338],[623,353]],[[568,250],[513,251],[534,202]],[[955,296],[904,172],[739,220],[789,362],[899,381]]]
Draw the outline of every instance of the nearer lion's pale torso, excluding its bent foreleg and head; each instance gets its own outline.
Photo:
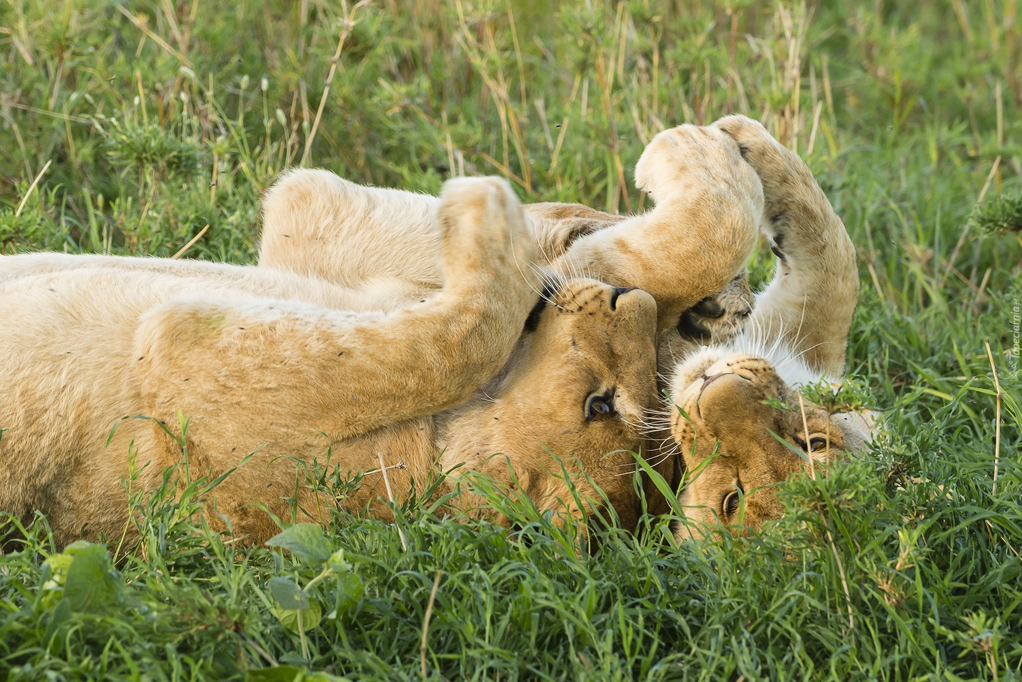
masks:
[[[129,476],[131,453],[142,470],[132,483],[135,490],[158,484],[162,470],[180,457],[152,421],[123,419],[147,411],[135,370],[140,316],[160,303],[192,296],[279,297],[340,309],[347,298],[336,289],[289,274],[214,263],[0,256],[0,429],[5,430],[0,438],[0,509],[19,517],[43,510],[61,541],[83,533],[120,536],[128,512],[122,480]],[[201,421],[193,426],[216,427]],[[201,435],[195,433],[198,446],[192,453],[200,474],[225,471],[244,454],[204,452]],[[380,451],[388,466],[400,460],[408,467],[389,472],[399,493],[408,490],[412,474],[421,489],[431,464],[431,435],[430,420],[380,430],[334,444],[332,464],[342,471],[378,470]],[[325,455],[329,446],[314,433],[296,439],[291,433],[280,436],[277,449],[293,447],[299,457]],[[268,448],[265,455],[270,454]],[[245,487],[259,466],[253,462],[253,471],[232,477],[233,492],[225,483],[235,507],[262,497],[280,500],[285,494],[266,490],[265,484],[263,490]],[[345,505],[358,507],[385,496],[379,480],[378,473],[367,477],[367,485]]]

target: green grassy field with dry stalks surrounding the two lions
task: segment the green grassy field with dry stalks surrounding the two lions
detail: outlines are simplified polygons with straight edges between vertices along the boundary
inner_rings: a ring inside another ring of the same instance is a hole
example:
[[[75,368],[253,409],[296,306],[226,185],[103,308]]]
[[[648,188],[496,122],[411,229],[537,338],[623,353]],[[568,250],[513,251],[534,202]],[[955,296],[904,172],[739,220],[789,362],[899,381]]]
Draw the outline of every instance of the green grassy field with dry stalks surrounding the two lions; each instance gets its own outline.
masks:
[[[171,255],[208,225],[188,257],[249,262],[259,199],[296,165],[427,192],[496,174],[635,211],[652,135],[740,111],[801,153],[858,247],[849,369],[889,433],[785,484],[756,537],[678,547],[647,519],[592,555],[524,507],[513,540],[414,499],[407,549],[341,513],[289,531],[294,552],[239,548],[173,472],[133,495],[133,547],[72,561],[45,518],[0,515],[0,678],[1019,680],[1017,10],[6,0],[5,253]]]

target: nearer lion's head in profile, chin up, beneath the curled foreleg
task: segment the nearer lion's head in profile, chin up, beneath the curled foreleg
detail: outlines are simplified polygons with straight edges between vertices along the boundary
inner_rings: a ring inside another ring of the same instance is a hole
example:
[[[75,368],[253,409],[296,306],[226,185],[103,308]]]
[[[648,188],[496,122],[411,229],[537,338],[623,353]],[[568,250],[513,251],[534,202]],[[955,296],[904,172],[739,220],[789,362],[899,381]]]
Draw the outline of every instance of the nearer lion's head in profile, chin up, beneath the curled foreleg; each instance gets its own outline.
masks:
[[[577,476],[585,473],[633,527],[639,500],[629,450],[642,447],[656,401],[655,337],[656,303],[646,292],[588,279],[555,282],[507,364],[456,408],[442,466],[464,461],[511,484],[509,458],[520,491],[540,509],[577,518],[559,457],[582,498],[601,504]]]

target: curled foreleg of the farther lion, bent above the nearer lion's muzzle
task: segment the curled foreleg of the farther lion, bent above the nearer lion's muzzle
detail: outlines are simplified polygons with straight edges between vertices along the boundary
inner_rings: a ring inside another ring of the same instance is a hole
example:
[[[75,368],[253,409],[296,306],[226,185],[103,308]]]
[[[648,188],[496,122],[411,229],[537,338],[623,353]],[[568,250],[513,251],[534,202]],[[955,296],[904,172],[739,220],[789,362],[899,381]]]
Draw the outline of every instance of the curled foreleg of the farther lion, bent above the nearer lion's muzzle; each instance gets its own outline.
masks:
[[[762,190],[734,140],[696,126],[657,135],[639,159],[636,184],[656,207],[579,238],[555,266],[648,291],[663,332],[743,270]]]

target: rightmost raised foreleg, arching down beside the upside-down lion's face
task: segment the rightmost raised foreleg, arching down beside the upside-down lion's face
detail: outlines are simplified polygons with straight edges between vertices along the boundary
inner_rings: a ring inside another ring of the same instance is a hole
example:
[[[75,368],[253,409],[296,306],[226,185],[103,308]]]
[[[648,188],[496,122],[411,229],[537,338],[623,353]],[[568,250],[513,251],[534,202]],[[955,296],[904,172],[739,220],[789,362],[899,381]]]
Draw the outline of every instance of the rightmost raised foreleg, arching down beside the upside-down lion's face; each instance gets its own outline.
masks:
[[[734,115],[713,125],[738,142],[762,182],[764,230],[778,256],[746,333],[763,345],[781,339],[810,370],[841,376],[858,300],[855,247],[841,218],[805,162],[760,124]]]

